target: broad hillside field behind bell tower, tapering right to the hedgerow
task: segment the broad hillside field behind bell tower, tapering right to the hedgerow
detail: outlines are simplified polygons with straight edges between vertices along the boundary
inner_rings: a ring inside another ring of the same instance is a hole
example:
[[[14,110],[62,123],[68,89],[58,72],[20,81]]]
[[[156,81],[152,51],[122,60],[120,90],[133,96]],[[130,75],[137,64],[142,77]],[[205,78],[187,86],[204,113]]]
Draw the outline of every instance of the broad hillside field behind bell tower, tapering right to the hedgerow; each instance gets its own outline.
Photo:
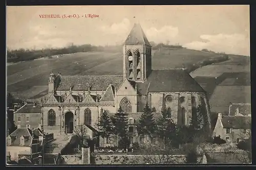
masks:
[[[168,51],[163,49],[153,53],[153,69],[177,68],[183,63],[186,65],[219,56],[187,49],[172,50],[166,54]],[[51,71],[55,74],[61,72],[61,75],[121,75],[121,56],[121,53],[75,53],[11,64],[7,66],[8,91],[19,93],[23,98],[40,98],[47,92]]]

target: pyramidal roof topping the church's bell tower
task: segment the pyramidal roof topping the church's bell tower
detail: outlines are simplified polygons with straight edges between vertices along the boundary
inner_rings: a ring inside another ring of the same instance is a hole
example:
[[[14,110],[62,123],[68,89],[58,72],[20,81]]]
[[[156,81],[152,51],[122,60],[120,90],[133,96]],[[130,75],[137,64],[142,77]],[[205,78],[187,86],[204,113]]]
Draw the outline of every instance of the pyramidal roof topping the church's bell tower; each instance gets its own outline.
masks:
[[[124,41],[125,45],[134,45],[134,44],[147,44],[150,45],[148,42],[145,33],[143,32],[139,23],[135,23],[133,29],[131,30],[130,34]]]

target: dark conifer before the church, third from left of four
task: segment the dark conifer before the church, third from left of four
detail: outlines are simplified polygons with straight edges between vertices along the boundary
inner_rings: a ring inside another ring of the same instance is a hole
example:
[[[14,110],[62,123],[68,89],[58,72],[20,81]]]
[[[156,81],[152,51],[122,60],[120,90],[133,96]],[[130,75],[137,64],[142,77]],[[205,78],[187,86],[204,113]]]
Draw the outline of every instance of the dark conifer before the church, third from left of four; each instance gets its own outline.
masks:
[[[150,136],[153,138],[153,134],[156,132],[156,123],[153,117],[153,113],[148,107],[148,104],[143,109],[143,114],[140,116],[139,124],[137,125],[138,134],[141,136]]]

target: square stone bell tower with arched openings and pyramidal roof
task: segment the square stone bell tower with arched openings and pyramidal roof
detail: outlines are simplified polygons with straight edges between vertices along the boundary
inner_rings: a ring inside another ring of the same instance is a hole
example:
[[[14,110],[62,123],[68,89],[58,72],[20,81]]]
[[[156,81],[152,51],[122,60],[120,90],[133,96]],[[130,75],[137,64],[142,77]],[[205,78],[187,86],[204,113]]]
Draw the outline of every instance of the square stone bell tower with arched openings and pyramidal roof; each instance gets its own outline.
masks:
[[[144,82],[151,74],[151,44],[139,23],[135,23],[123,43],[123,77]]]

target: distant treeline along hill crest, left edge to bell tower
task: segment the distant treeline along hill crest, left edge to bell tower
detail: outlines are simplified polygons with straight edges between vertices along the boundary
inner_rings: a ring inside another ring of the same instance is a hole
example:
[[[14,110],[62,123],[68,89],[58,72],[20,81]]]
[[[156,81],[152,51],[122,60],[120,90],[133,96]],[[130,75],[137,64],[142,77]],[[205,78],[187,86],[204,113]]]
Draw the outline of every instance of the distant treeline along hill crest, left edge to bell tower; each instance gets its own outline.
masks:
[[[7,50],[7,62],[19,62],[34,60],[41,57],[51,57],[55,55],[72,54],[79,52],[121,52],[122,46],[95,46],[91,44],[70,45],[63,48],[45,48],[41,50]]]

